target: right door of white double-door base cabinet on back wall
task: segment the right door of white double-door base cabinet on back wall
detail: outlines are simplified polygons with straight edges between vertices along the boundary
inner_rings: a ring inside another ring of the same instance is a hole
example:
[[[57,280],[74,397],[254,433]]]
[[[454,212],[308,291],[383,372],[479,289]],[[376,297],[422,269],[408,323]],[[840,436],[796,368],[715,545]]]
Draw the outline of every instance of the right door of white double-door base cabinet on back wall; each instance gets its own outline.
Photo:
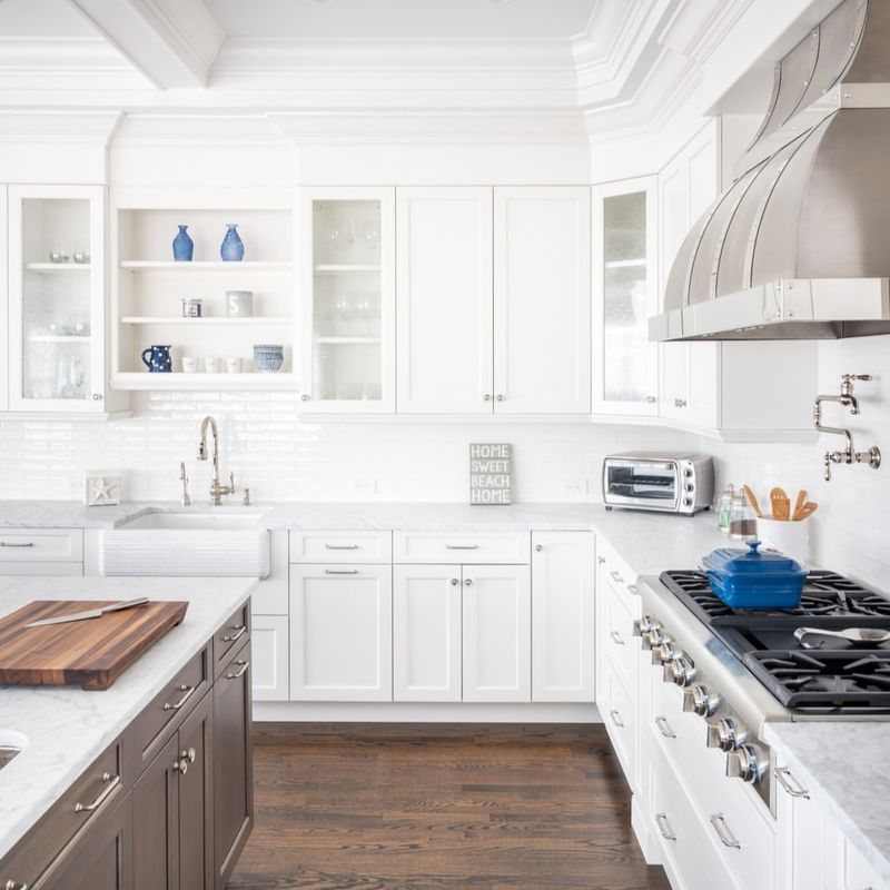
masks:
[[[464,566],[464,701],[531,701],[530,581],[527,565]]]

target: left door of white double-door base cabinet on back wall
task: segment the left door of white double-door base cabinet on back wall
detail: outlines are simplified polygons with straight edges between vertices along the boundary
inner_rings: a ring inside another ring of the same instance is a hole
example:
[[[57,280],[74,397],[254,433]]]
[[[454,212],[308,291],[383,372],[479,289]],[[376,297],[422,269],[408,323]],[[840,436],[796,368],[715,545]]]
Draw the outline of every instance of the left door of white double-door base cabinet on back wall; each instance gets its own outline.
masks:
[[[461,577],[459,566],[393,570],[395,701],[461,701]]]

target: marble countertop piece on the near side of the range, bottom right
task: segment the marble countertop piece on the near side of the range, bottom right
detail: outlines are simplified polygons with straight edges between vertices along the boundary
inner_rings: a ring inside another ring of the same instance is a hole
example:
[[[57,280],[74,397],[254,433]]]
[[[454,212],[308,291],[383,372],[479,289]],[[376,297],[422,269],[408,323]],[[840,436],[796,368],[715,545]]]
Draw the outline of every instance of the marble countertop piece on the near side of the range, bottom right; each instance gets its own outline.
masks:
[[[890,722],[764,723],[763,738],[890,883]]]

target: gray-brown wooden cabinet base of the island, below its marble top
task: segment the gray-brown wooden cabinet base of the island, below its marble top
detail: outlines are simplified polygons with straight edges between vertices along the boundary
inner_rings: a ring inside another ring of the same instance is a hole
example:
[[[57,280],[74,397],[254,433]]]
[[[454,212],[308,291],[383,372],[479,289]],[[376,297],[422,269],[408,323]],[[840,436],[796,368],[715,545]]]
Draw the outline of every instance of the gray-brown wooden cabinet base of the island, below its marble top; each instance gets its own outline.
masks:
[[[0,888],[225,888],[254,822],[249,616],[247,602],[9,852]]]

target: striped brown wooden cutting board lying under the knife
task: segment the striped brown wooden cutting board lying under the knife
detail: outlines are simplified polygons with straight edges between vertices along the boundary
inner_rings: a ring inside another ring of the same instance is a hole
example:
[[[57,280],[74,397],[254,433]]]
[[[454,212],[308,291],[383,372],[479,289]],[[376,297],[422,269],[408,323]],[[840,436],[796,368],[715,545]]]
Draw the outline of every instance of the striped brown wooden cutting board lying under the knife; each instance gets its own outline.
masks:
[[[34,600],[0,619],[0,684],[108,689],[186,615],[188,603],[149,602],[98,619],[24,627],[111,605],[112,600]]]

